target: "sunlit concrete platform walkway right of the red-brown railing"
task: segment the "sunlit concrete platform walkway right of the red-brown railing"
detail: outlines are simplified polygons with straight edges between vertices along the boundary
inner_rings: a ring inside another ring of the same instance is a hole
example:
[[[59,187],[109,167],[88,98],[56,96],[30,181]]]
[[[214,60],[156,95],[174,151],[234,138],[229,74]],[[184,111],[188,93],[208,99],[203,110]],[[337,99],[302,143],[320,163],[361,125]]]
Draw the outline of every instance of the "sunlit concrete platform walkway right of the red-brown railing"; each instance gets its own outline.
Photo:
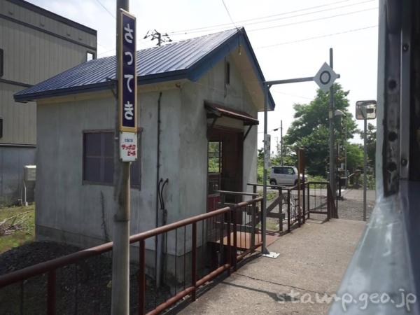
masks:
[[[181,314],[326,314],[328,304],[300,300],[335,293],[364,228],[360,221],[310,220],[269,246],[279,258],[251,260]]]

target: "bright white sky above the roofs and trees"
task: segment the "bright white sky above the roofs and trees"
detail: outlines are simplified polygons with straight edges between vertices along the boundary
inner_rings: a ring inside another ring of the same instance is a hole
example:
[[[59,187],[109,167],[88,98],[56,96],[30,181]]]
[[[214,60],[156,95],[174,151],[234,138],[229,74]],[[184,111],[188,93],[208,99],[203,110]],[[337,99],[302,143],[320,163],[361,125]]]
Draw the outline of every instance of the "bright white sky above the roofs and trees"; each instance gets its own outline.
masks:
[[[98,57],[115,55],[116,0],[29,0],[79,22],[98,34]],[[137,17],[137,49],[155,45],[143,39],[149,30],[167,33],[172,41],[244,26],[266,80],[314,76],[329,49],[334,51],[337,83],[349,90],[350,111],[356,101],[377,98],[377,0],[130,0]],[[293,121],[293,104],[316,95],[314,82],[275,85],[276,109],[268,114],[272,148]],[[262,145],[263,115],[258,143]],[[374,121],[370,121],[374,123]],[[363,129],[363,120],[358,121]],[[361,142],[356,135],[353,140]]]

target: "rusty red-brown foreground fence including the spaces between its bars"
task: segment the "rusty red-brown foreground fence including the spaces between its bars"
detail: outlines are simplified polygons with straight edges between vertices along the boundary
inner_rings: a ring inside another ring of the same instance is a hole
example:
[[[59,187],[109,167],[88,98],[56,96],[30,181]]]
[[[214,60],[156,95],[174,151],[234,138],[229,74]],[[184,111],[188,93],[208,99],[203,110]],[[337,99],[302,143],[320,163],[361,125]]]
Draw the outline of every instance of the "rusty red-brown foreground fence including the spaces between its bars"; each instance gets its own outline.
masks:
[[[131,313],[137,309],[138,314],[158,314],[187,295],[195,300],[197,288],[235,271],[237,262],[261,245],[257,228],[261,202],[258,197],[130,237],[130,244],[138,244],[131,249],[139,258],[130,276]],[[242,212],[251,219],[237,222]],[[148,249],[158,237],[164,240],[162,266],[153,265],[153,251]],[[108,314],[111,275],[105,276],[99,267],[83,274],[83,266],[100,255],[109,258],[112,247],[109,242],[0,276],[0,313],[44,314],[46,309],[47,314]],[[160,283],[151,276],[158,268],[163,270]],[[86,291],[83,281],[88,283]]]

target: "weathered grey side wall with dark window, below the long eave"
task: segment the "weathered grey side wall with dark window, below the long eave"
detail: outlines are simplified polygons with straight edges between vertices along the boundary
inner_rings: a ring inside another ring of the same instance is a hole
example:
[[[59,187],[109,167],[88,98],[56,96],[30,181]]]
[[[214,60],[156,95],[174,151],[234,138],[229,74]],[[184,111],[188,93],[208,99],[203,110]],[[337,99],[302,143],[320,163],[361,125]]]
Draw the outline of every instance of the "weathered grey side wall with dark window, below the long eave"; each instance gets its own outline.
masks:
[[[141,190],[132,189],[131,234],[155,226],[158,95],[158,92],[149,92],[139,97],[139,126],[144,128],[141,134],[142,179]],[[176,183],[172,185],[173,174],[179,172],[173,167],[177,165],[179,145],[176,125],[175,132],[171,126],[179,112],[178,95],[176,90],[165,91],[162,95],[162,108],[165,109],[162,121],[169,126],[162,124],[162,149],[165,148],[164,154],[172,161],[172,167],[162,167],[162,174],[167,174],[165,176],[171,181],[166,194],[169,209],[178,207],[179,195]],[[113,129],[114,111],[115,101],[111,97],[38,105],[38,238],[51,237],[86,247],[102,243],[105,234],[112,237],[113,187],[83,184],[82,163],[83,130]]]

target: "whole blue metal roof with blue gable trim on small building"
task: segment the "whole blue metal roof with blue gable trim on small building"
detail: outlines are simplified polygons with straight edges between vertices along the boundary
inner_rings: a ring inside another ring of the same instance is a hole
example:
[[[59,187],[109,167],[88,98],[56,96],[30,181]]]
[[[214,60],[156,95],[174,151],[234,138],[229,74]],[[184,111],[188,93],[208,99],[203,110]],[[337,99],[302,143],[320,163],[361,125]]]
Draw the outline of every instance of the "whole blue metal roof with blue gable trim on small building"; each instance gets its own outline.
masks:
[[[137,51],[139,85],[179,80],[198,80],[230,51],[242,46],[251,56],[255,76],[265,80],[245,30],[231,29],[185,41]],[[59,73],[15,94],[17,102],[59,95],[105,90],[116,82],[116,56],[93,59]],[[261,83],[262,86],[262,83]],[[269,107],[274,109],[269,94]]]

